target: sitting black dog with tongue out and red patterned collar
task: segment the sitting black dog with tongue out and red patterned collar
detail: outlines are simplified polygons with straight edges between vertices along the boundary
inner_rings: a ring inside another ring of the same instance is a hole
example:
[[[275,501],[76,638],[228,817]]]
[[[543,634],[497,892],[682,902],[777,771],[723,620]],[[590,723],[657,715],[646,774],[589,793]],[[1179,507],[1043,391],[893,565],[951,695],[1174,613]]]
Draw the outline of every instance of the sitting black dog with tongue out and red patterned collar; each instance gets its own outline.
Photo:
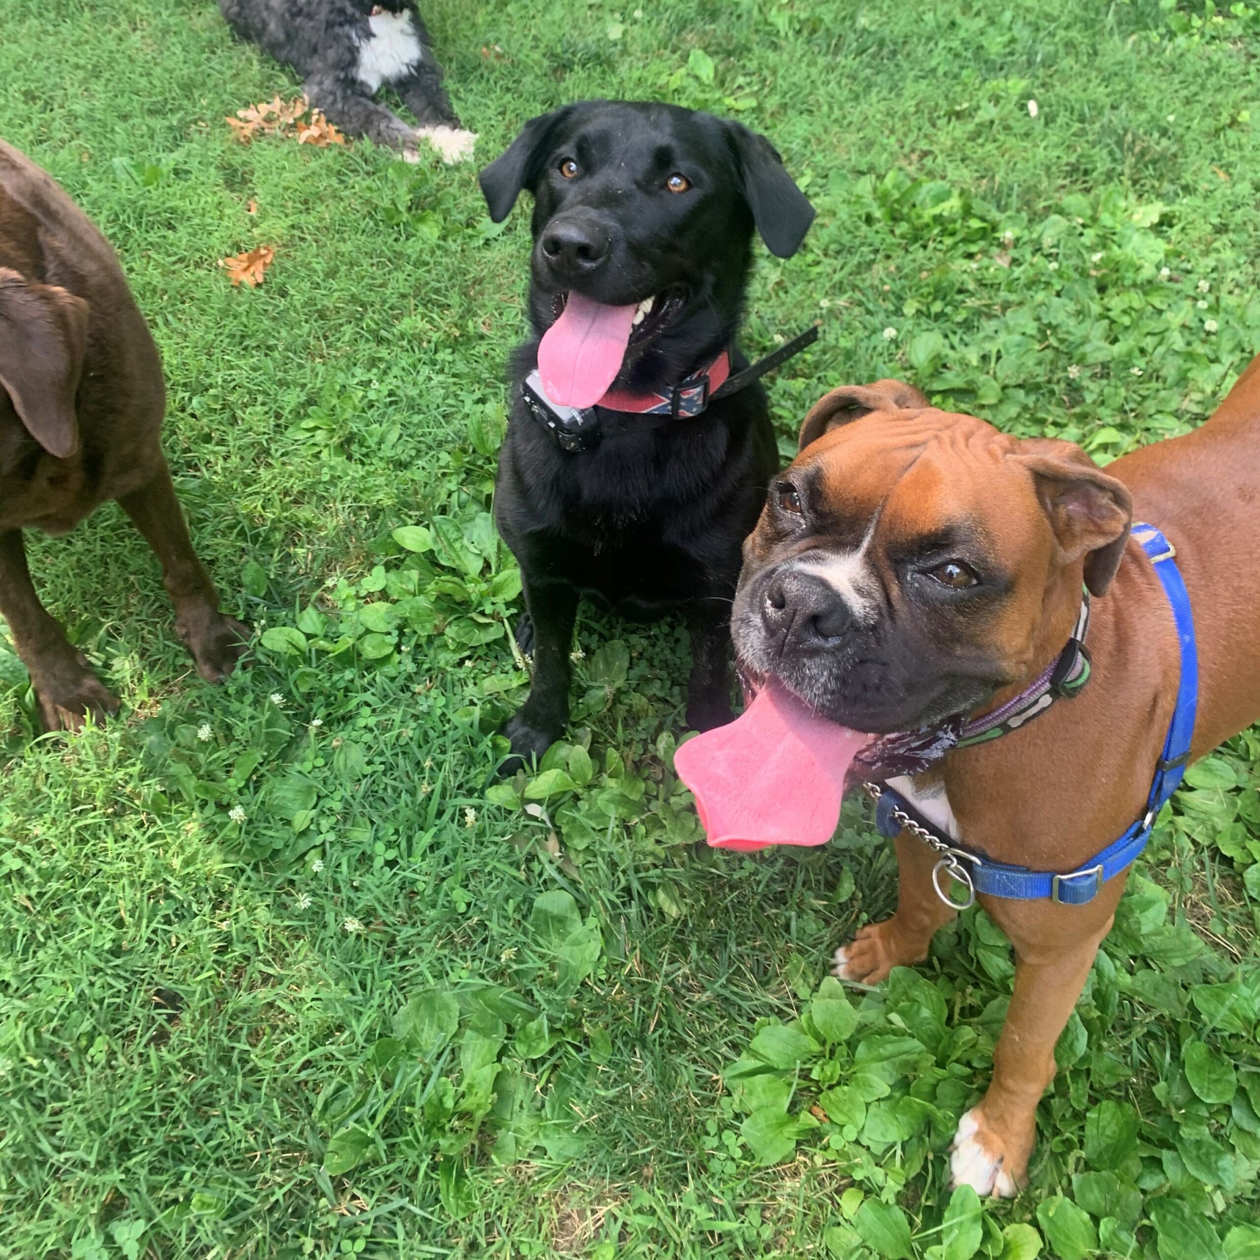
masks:
[[[764,137],[650,103],[533,118],[481,171],[495,223],[523,188],[536,335],[514,358],[495,519],[520,562],[534,677],[504,732],[529,757],[563,731],[580,593],[641,620],[688,610],[687,719],[707,730],[731,718],[740,546],[777,454],[759,384],[704,403],[746,367],[733,339],[753,226],[786,258],[813,207]]]

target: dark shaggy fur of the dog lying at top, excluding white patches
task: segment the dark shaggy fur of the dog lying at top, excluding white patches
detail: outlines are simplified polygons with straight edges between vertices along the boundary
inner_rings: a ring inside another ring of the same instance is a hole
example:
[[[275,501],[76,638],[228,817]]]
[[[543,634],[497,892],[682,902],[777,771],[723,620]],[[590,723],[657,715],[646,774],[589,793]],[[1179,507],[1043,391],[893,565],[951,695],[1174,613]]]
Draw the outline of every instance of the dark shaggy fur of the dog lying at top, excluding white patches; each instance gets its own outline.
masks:
[[[428,32],[411,0],[219,0],[219,9],[242,39],[292,66],[305,79],[310,103],[348,136],[365,136],[413,155],[420,139],[416,129],[378,105],[373,100],[375,87],[360,78],[363,49],[373,38],[372,13],[408,15],[421,55],[384,82],[397,91],[421,127],[460,127],[442,87]],[[441,140],[449,142],[449,137]],[[459,141],[455,144],[459,146]]]

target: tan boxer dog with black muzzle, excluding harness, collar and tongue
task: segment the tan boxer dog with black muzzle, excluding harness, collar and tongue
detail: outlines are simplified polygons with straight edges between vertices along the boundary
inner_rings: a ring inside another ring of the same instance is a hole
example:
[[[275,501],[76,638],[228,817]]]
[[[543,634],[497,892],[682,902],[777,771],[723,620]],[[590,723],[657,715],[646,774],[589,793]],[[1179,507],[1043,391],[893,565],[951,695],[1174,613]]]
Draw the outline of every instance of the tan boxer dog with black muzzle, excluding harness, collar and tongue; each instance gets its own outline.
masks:
[[[1257,364],[1201,428],[1106,471],[1070,442],[1000,433],[896,381],[833,391],[745,544],[732,619],[743,668],[859,731],[982,714],[1056,659],[1084,583],[1089,683],[1002,738],[891,781],[969,849],[1076,871],[1143,815],[1177,696],[1173,616],[1130,537],[1134,515],[1173,543],[1192,601],[1192,757],[1260,718]],[[954,916],[932,887],[939,854],[908,830],[895,844],[897,911],[837,951],[844,979],[876,984],[921,961]],[[1014,995],[988,1092],[954,1139],[955,1184],[1012,1196],[1026,1181],[1055,1042],[1125,878],[1080,906],[979,898],[1014,945]]]

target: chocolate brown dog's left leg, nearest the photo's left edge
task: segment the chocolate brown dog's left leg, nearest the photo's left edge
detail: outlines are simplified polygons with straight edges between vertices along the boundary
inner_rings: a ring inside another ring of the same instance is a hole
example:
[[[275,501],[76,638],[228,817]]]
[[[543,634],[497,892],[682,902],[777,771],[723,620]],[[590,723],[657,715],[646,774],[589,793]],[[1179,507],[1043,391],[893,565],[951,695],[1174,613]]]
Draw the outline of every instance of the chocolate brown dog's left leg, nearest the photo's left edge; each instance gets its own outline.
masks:
[[[39,602],[20,529],[0,532],[0,612],[39,698],[49,731],[77,731],[92,713],[118,712],[118,702],[101,685],[87,659],[71,646],[66,631]]]

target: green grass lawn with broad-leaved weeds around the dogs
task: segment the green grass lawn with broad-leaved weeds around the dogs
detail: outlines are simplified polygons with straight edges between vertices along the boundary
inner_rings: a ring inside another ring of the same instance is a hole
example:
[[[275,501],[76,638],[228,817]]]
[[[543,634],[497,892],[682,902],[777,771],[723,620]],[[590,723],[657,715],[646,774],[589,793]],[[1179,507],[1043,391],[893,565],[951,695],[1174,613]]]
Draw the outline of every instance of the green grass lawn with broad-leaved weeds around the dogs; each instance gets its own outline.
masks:
[[[479,160],[596,94],[775,140],[819,219],[761,251],[746,341],[824,324],[771,386],[785,451],[825,388],[892,374],[1106,459],[1260,344],[1252,10],[631,3],[426,16]],[[1009,950],[971,914],[811,1005],[891,854],[858,806],[824,852],[694,845],[680,626],[583,620],[571,742],[486,799],[524,684],[484,514],[525,215],[491,228],[470,166],[239,145],[224,115],[295,84],[210,0],[5,0],[3,28],[0,134],[116,243],[197,546],[265,631],[208,688],[116,508],[33,544],[125,708],[37,740],[0,650],[3,1255],[1260,1254],[1260,736],[1159,828],[1032,1186],[975,1228],[945,1148]],[[215,261],[261,243],[232,290]],[[828,1046],[774,1031],[801,1016]]]

